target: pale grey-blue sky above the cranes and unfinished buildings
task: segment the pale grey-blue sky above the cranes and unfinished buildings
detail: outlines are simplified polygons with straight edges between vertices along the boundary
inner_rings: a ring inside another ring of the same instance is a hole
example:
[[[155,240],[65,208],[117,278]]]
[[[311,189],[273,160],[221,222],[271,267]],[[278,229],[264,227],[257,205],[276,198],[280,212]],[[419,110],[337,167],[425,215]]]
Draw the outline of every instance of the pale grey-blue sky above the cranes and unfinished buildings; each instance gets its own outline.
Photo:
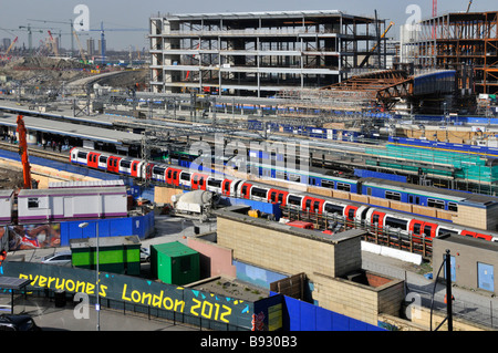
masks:
[[[438,0],[438,13],[466,11],[468,0]],[[432,14],[433,0],[0,0],[0,39],[19,37],[18,45],[28,46],[28,34],[19,30],[20,25],[39,28],[33,30],[33,45],[48,37],[46,29],[62,33],[63,48],[71,46],[70,20],[75,20],[81,13],[74,13],[79,4],[89,9],[89,22],[92,31],[80,38],[85,48],[86,39],[100,39],[101,22],[107,41],[107,50],[148,49],[148,19],[157,13],[214,13],[214,12],[259,12],[259,11],[299,11],[299,10],[340,10],[349,14],[374,17],[375,10],[382,19],[394,21],[395,27],[390,37],[398,37],[400,25],[404,24],[413,12],[406,13],[408,6],[416,4],[422,10],[422,19]],[[496,11],[496,0],[474,0],[471,11]],[[35,21],[37,20],[37,21]],[[41,22],[51,21],[51,22]],[[54,23],[65,22],[65,23]],[[388,22],[387,22],[388,23]],[[6,31],[6,29],[8,31]],[[126,31],[123,31],[126,29]],[[133,29],[133,31],[131,31]],[[12,31],[15,30],[15,31]],[[74,43],[76,46],[77,44]],[[77,49],[77,46],[76,46]]]

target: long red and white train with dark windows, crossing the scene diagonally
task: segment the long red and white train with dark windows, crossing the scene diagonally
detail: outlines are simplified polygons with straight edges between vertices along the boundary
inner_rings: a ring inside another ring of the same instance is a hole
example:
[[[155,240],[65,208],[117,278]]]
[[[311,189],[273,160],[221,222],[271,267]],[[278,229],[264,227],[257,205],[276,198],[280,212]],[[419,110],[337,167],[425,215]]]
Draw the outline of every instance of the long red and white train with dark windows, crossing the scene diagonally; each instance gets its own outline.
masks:
[[[404,214],[382,207],[293,191],[292,188],[276,187],[263,183],[237,179],[193,170],[176,165],[145,162],[139,158],[108,154],[75,147],[70,152],[73,164],[127,175],[135,178],[147,177],[158,184],[167,184],[187,189],[203,189],[225,197],[245,198],[266,203],[279,203],[282,207],[315,212],[336,214],[349,221],[363,221],[371,229],[398,229],[402,233],[435,238],[443,233],[457,233],[478,239],[498,241],[498,233],[469,228],[449,221]]]

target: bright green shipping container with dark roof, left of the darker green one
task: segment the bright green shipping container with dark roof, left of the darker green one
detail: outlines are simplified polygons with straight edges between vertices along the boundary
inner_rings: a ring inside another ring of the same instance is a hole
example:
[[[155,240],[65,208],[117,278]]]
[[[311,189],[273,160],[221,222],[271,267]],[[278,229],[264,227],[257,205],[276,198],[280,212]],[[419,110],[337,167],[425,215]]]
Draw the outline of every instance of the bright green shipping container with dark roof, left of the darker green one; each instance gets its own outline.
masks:
[[[141,240],[137,236],[100,237],[98,271],[141,274]],[[96,238],[71,239],[72,264],[96,270]]]

